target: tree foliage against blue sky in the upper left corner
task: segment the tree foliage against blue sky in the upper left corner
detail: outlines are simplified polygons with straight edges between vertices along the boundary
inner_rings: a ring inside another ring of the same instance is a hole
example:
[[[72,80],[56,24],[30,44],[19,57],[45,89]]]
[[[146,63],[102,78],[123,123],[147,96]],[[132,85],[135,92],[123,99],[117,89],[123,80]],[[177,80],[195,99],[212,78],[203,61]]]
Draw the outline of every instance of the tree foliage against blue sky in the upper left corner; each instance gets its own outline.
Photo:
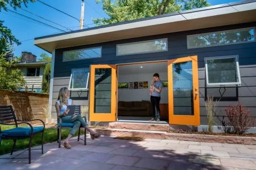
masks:
[[[35,0],[0,0],[0,12],[2,10],[7,11],[7,5],[16,8],[20,8],[22,4],[27,7],[28,2],[35,2]],[[0,20],[0,54],[5,53],[8,49],[9,45],[20,45],[18,39],[15,38],[11,29],[5,27],[3,25],[3,20]]]

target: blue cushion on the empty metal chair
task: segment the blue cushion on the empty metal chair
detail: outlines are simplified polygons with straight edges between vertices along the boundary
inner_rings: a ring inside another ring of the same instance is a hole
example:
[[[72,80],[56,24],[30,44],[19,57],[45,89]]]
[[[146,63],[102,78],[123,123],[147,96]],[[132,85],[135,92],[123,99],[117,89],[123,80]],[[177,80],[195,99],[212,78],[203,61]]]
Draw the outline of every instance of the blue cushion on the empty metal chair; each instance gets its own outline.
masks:
[[[39,133],[44,130],[43,126],[33,127],[33,134]],[[14,128],[3,130],[2,135],[5,137],[24,137],[30,136],[31,128],[30,127],[23,127],[23,128]]]

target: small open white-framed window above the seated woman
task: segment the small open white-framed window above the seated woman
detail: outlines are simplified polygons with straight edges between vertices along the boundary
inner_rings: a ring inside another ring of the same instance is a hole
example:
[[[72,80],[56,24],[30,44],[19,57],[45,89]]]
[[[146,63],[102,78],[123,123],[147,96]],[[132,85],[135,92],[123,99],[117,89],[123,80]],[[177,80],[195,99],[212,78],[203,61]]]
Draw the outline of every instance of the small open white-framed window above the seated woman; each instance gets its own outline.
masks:
[[[89,83],[89,68],[72,69],[68,90],[87,91]]]

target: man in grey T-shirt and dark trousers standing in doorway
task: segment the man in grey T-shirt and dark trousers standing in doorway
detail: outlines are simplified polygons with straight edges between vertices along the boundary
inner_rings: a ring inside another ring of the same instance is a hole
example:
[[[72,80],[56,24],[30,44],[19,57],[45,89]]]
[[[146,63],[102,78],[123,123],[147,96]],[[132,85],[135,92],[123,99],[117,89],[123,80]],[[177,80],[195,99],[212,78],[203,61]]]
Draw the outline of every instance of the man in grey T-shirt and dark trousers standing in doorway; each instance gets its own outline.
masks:
[[[156,120],[157,122],[160,121],[160,94],[163,88],[163,83],[159,78],[159,74],[155,73],[153,75],[153,79],[155,80],[155,84],[153,86],[153,92],[150,96],[151,107],[152,107],[152,118],[150,121]]]

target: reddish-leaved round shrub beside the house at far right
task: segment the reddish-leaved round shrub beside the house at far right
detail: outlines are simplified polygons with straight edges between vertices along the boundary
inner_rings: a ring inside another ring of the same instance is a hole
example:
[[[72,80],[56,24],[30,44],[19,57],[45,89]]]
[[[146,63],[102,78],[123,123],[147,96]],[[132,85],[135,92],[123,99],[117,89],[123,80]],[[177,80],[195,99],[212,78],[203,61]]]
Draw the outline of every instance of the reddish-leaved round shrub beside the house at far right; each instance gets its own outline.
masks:
[[[250,110],[238,103],[236,106],[230,105],[225,109],[228,116],[228,124],[233,126],[234,133],[243,134],[250,127],[255,125],[255,118],[251,116]]]

